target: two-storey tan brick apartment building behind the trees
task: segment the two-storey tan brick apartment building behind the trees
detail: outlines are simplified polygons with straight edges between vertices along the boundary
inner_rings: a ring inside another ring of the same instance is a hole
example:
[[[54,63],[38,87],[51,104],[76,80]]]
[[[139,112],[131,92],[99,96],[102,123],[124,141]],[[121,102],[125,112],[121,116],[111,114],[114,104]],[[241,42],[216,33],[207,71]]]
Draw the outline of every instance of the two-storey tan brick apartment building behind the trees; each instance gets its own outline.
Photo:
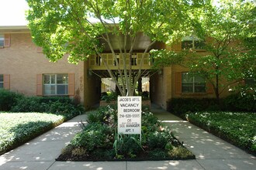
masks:
[[[194,47],[194,42],[191,44]],[[171,47],[158,46],[182,50],[182,43]],[[198,53],[206,52],[199,50]],[[112,56],[104,55],[109,57],[109,66],[115,66]],[[139,52],[134,55],[140,59]],[[144,61],[144,70],[150,70],[149,59]],[[215,97],[209,83],[199,77],[188,77],[188,72],[189,69],[175,65],[154,74],[145,72],[151,102],[166,109],[167,101],[173,97]],[[67,56],[57,63],[50,63],[42,49],[33,43],[26,26],[0,26],[0,88],[28,96],[78,96],[81,104],[88,107],[99,103],[102,78],[108,78],[108,75],[96,56],[90,56],[78,65],[67,63]],[[183,82],[186,79],[191,82],[186,84]]]

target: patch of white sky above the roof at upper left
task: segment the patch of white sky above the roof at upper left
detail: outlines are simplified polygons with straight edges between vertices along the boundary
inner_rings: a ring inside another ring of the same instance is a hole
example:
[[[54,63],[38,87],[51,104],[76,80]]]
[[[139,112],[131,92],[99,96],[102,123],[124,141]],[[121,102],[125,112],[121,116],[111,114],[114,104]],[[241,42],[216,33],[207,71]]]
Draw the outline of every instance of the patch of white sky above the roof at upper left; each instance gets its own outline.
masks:
[[[26,0],[0,0],[0,26],[26,26]]]

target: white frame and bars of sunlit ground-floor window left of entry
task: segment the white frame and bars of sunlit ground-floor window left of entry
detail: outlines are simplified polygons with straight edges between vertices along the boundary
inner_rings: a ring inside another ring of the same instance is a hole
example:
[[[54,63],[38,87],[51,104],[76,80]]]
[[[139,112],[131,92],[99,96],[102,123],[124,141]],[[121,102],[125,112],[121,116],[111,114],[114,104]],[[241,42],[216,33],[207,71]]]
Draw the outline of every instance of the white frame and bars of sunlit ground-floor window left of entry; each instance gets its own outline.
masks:
[[[67,76],[67,83],[57,83],[57,76],[63,75]],[[50,76],[50,82],[45,83],[45,77]],[[52,78],[54,78],[54,83],[52,83]],[[54,93],[46,93],[45,87],[46,86],[52,86],[54,87]],[[57,93],[59,86],[66,86],[65,87],[65,93]],[[43,95],[44,96],[67,96],[68,95],[68,74],[67,73],[57,73],[57,74],[43,74]]]

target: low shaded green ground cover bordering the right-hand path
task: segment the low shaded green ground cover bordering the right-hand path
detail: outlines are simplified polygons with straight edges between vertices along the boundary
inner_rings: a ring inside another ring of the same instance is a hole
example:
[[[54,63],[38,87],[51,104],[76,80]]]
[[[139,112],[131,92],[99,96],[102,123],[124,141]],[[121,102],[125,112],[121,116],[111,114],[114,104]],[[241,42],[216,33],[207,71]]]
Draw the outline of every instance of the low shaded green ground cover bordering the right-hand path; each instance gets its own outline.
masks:
[[[256,155],[256,113],[202,111],[188,114],[187,119]]]

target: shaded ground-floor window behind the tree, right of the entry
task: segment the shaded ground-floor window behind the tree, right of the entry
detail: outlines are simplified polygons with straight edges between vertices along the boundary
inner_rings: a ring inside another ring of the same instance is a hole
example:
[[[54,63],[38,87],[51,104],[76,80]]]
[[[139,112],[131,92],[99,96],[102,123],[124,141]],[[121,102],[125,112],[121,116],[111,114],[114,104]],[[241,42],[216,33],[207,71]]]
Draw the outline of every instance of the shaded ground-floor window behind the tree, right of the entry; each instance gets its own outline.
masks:
[[[206,79],[199,73],[182,73],[182,93],[206,93]]]

